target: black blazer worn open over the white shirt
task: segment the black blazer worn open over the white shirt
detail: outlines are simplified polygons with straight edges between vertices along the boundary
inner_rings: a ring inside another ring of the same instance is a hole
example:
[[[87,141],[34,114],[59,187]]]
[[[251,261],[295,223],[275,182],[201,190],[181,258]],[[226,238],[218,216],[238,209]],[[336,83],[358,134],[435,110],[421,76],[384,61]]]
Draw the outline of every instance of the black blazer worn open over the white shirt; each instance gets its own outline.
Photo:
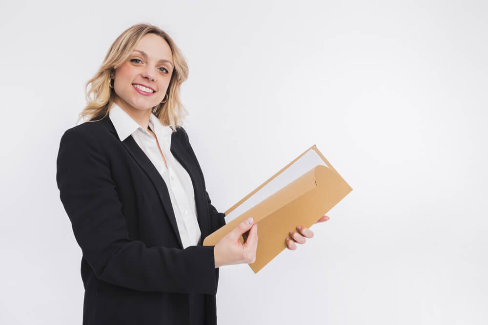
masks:
[[[83,325],[217,323],[219,268],[202,242],[225,214],[182,127],[171,153],[191,177],[202,232],[186,249],[166,184],[132,136],[121,142],[108,115],[62,135],[56,180],[83,255]]]

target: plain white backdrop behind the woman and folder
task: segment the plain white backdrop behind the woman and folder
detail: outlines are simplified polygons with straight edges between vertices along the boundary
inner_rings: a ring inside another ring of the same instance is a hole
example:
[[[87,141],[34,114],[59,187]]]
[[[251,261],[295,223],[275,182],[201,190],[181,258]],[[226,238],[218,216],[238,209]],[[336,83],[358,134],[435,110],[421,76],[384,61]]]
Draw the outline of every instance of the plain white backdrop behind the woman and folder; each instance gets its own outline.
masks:
[[[486,324],[486,1],[1,4],[0,324],[81,324],[56,157],[113,40],[158,25],[225,211],[316,144],[353,191],[258,274],[221,268],[219,324]]]

